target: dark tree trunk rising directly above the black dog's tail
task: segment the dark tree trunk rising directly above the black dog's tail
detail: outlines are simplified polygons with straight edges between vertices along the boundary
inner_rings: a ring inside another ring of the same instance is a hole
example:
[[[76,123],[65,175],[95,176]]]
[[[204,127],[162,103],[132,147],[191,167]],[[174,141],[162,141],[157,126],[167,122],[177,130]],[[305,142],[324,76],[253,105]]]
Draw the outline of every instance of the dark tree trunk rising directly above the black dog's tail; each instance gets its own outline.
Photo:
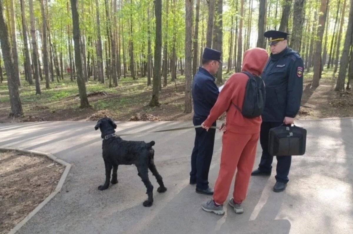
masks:
[[[154,68],[153,68],[153,90],[150,106],[159,106],[159,82],[161,78],[161,55],[162,55],[162,0],[155,0],[155,16],[156,16],[156,37],[154,51]],[[191,34],[190,34],[191,35]],[[190,49],[191,51],[191,49]]]

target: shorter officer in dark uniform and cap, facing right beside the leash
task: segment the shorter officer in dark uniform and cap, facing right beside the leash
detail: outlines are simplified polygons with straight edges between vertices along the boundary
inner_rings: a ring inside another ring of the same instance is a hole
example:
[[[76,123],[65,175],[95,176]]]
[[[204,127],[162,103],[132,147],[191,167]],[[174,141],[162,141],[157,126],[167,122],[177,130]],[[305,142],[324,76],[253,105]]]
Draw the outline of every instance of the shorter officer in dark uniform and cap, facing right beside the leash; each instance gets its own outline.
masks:
[[[218,98],[218,88],[213,75],[222,64],[221,52],[205,48],[202,57],[202,67],[194,76],[192,82],[192,98],[194,105],[193,124],[201,125],[210,114],[210,110]],[[216,126],[216,122],[212,124]],[[213,154],[215,129],[196,128],[195,146],[191,154],[190,184],[196,184],[196,192],[213,194],[208,186],[208,172]]]

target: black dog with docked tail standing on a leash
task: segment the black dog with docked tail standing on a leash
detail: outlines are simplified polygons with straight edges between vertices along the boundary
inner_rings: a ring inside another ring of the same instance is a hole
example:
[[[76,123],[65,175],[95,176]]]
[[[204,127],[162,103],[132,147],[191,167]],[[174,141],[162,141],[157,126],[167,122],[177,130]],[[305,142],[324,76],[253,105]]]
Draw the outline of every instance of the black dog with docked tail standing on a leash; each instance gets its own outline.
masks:
[[[167,188],[164,187],[161,175],[154,164],[154,146],[155,142],[146,143],[144,141],[124,141],[121,137],[115,135],[116,124],[108,117],[98,120],[94,127],[96,130],[100,128],[101,137],[103,138],[103,159],[106,167],[106,181],[103,185],[98,187],[99,190],[105,190],[109,187],[110,173],[113,168],[112,184],[118,183],[116,171],[119,165],[134,164],[137,167],[138,176],[141,177],[143,183],[147,188],[148,199],[143,202],[145,207],[150,207],[153,203],[153,185],[148,178],[148,169],[156,177],[160,187],[158,192],[165,192]]]

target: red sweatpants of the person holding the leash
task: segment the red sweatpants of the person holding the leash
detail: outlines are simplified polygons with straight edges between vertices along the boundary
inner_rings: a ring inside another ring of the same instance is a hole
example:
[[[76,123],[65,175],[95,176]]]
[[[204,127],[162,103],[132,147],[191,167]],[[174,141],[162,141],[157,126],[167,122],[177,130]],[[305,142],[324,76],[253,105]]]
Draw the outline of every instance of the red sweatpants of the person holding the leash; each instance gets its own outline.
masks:
[[[236,169],[238,171],[234,183],[234,202],[241,203],[245,199],[259,135],[259,133],[239,134],[229,131],[223,133],[221,165],[213,194],[217,204],[226,201]]]

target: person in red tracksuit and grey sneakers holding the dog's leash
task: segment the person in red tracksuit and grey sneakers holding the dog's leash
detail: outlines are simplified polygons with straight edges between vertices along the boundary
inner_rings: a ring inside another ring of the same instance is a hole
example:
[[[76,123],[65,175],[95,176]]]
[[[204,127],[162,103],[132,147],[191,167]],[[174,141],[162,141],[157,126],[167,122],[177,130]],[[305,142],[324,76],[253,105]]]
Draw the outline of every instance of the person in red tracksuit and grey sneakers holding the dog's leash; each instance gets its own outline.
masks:
[[[260,75],[268,60],[267,51],[262,48],[253,48],[245,51],[242,71],[253,75]],[[243,213],[241,203],[246,197],[251,170],[254,165],[257,142],[260,135],[261,116],[246,118],[235,107],[243,106],[245,87],[249,76],[244,73],[233,74],[225,83],[219,97],[210,111],[202,127],[208,130],[212,123],[227,111],[226,125],[222,137],[221,165],[213,199],[202,203],[202,209],[215,214],[223,215],[223,203],[226,201],[232,179],[235,177],[233,198],[229,205],[235,213]]]

